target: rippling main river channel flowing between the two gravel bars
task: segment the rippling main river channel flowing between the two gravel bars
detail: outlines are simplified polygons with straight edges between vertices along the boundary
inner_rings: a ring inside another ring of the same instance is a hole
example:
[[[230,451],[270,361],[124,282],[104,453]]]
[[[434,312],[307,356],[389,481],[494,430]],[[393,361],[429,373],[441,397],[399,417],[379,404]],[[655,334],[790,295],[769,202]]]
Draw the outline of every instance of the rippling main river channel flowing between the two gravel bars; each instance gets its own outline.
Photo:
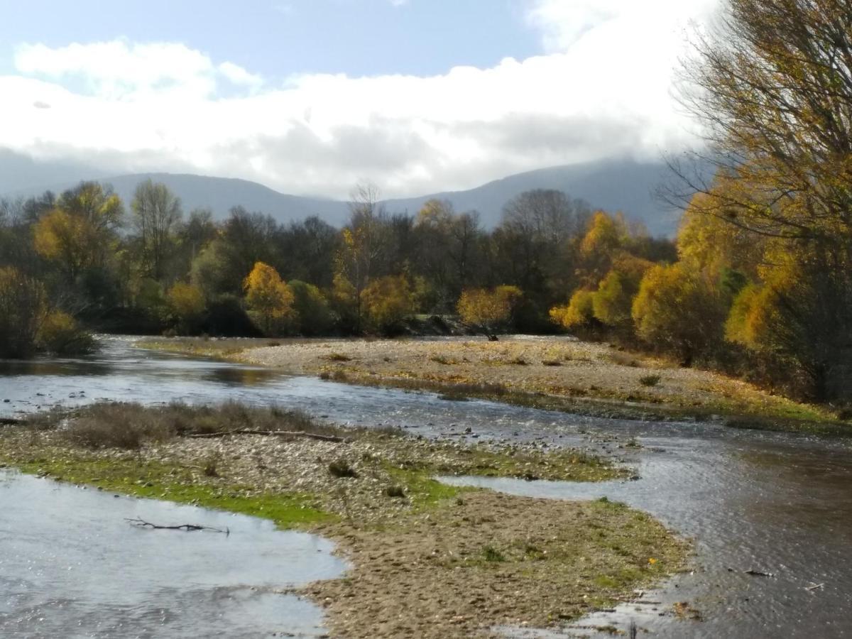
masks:
[[[239,400],[300,408],[331,421],[394,425],[427,436],[584,446],[638,470],[638,481],[599,485],[478,481],[550,498],[625,501],[694,537],[695,571],[636,605],[584,619],[653,636],[852,635],[852,449],[843,440],[725,429],[708,423],[641,423],[577,417],[435,394],[291,377],[252,366],[154,354],[108,338],[91,360],[0,362],[0,415],[95,400],[210,403]],[[461,435],[464,429],[472,433]],[[625,446],[636,438],[642,448]],[[757,577],[755,570],[773,573]],[[811,586],[823,584],[818,588]],[[659,602],[648,603],[642,602]],[[704,621],[676,619],[689,602]],[[524,636],[533,636],[527,632]]]

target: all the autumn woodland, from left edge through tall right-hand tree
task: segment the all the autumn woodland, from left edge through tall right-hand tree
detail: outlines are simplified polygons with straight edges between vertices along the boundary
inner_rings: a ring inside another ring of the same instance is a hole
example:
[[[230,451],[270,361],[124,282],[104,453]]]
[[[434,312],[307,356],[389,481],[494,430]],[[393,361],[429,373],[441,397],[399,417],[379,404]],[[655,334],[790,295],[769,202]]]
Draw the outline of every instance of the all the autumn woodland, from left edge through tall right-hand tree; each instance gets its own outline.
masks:
[[[342,229],[234,207],[185,213],[163,185],[98,183],[0,204],[0,355],[90,347],[85,330],[394,335],[415,315],[570,331],[819,401],[852,388],[852,43],[848,3],[731,3],[699,40],[672,161],[676,241],[556,191],[502,222],[433,200],[384,210],[360,185]]]

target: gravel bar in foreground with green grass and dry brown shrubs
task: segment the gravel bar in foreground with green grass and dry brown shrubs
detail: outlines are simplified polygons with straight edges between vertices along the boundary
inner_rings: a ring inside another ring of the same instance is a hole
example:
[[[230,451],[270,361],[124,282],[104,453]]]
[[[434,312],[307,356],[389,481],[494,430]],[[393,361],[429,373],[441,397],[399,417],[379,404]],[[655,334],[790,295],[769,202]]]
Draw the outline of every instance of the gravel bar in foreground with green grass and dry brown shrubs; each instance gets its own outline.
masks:
[[[302,591],[327,609],[333,636],[555,627],[629,601],[636,588],[681,569],[688,554],[659,522],[620,504],[511,497],[432,479],[630,473],[606,460],[340,429],[274,409],[117,405],[42,415],[0,429],[0,462],[334,539],[350,571]]]

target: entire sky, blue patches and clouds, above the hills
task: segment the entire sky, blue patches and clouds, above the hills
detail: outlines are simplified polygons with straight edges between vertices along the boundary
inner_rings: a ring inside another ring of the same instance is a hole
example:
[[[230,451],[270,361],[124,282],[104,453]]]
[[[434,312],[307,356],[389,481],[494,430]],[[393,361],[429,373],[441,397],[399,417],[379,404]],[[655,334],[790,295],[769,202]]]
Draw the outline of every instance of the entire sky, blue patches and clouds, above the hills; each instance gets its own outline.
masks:
[[[657,160],[719,2],[0,0],[0,148],[326,197]]]

